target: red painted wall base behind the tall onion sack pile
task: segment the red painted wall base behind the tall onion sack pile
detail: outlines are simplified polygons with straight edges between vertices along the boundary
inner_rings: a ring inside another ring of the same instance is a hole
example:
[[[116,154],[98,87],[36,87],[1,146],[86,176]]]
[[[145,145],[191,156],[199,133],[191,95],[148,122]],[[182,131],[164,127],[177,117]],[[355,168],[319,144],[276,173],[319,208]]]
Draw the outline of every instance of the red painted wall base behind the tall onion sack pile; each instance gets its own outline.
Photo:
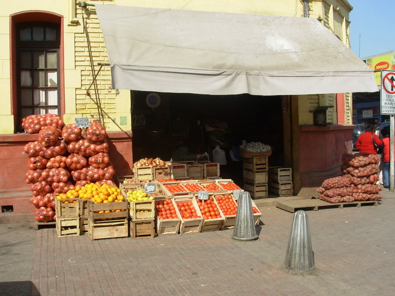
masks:
[[[116,176],[132,174],[132,132],[108,132],[110,159]],[[38,134],[0,135],[0,223],[34,221],[36,208],[30,203],[33,196],[25,183],[29,157],[23,148],[37,141]],[[115,180],[116,178],[114,178]]]

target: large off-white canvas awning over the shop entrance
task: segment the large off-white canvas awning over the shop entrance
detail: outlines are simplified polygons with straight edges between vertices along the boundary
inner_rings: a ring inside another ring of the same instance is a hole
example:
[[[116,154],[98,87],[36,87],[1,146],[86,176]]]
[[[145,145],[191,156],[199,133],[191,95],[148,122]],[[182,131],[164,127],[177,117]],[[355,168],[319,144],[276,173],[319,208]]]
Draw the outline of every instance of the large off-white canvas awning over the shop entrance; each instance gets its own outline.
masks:
[[[113,88],[299,95],[378,91],[316,19],[96,4]]]

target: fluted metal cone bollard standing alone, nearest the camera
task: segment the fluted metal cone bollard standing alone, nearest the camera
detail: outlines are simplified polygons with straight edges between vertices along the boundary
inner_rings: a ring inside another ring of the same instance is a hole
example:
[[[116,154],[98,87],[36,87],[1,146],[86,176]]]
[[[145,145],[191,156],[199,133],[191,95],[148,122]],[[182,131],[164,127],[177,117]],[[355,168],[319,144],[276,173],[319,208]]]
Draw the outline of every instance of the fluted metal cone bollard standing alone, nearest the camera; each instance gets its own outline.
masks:
[[[309,218],[305,211],[297,211],[293,216],[284,266],[293,273],[312,273],[316,269]]]

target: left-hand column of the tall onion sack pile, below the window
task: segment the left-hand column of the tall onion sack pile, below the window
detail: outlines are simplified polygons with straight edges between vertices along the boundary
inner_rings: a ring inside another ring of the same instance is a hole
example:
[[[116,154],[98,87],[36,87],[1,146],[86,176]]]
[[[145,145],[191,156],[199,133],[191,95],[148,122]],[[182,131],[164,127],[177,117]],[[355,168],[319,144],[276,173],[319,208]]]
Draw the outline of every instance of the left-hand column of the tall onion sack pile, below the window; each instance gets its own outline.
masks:
[[[60,140],[63,121],[54,114],[30,115],[22,119],[28,133],[38,133],[38,140],[25,145],[30,157],[25,182],[30,184],[38,222],[56,220],[55,194],[74,188],[68,181],[70,173],[66,166],[66,144]]]

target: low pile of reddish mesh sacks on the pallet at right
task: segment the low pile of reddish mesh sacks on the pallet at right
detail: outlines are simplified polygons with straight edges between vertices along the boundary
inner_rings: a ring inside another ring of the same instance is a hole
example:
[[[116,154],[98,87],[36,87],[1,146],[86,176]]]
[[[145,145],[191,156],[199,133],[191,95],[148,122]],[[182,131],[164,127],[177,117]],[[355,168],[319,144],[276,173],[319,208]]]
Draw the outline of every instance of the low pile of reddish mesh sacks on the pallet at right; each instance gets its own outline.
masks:
[[[317,189],[319,199],[330,203],[381,200],[382,188],[376,184],[379,160],[369,153],[343,154],[340,169],[344,175],[325,180]]]

